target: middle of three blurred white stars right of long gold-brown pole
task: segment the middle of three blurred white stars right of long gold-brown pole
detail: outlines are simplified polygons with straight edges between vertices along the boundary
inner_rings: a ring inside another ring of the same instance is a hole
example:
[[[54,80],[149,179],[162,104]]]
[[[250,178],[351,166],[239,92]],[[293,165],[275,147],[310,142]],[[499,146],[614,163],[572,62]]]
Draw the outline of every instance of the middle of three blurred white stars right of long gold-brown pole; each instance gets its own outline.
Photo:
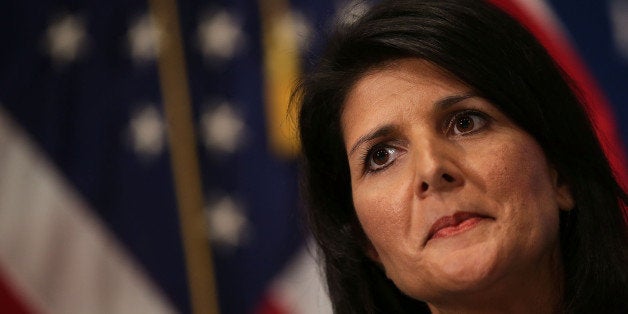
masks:
[[[201,130],[208,150],[233,153],[242,144],[245,124],[229,103],[222,102],[202,114]]]

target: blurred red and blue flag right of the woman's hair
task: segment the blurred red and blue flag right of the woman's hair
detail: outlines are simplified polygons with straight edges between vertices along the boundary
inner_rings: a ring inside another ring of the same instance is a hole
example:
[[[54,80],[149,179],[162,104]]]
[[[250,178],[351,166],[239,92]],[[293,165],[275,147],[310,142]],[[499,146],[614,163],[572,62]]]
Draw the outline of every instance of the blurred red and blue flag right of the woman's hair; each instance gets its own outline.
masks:
[[[521,21],[573,79],[607,156],[628,187],[628,3],[625,0],[490,0]],[[623,141],[622,141],[623,138]]]

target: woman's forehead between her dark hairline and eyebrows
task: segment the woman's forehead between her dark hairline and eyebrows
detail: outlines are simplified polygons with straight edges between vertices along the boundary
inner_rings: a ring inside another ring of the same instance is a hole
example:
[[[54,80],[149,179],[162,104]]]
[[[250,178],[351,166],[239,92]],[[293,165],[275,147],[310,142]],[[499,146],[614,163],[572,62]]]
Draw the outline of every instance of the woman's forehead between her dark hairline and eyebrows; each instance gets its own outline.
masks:
[[[439,98],[470,90],[453,75],[421,59],[400,59],[377,67],[360,77],[347,94],[341,115],[345,140],[348,128],[378,124],[393,114],[431,110]]]

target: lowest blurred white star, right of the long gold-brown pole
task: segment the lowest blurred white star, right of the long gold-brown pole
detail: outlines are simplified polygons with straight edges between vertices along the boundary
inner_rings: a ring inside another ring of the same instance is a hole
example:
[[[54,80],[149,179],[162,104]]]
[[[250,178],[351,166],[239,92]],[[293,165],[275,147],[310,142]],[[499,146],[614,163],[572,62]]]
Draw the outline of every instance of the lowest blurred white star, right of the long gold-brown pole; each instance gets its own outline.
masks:
[[[247,220],[241,206],[233,198],[222,196],[207,205],[210,240],[223,248],[235,248],[248,238]]]

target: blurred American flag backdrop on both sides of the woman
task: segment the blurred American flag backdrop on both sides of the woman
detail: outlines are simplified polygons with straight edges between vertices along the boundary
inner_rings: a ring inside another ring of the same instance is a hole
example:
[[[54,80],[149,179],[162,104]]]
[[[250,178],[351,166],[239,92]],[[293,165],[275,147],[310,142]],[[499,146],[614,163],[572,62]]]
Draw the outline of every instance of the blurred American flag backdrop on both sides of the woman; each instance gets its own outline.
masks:
[[[625,178],[628,2],[493,2],[587,91]],[[330,313],[287,99],[368,5],[2,1],[0,312]]]

